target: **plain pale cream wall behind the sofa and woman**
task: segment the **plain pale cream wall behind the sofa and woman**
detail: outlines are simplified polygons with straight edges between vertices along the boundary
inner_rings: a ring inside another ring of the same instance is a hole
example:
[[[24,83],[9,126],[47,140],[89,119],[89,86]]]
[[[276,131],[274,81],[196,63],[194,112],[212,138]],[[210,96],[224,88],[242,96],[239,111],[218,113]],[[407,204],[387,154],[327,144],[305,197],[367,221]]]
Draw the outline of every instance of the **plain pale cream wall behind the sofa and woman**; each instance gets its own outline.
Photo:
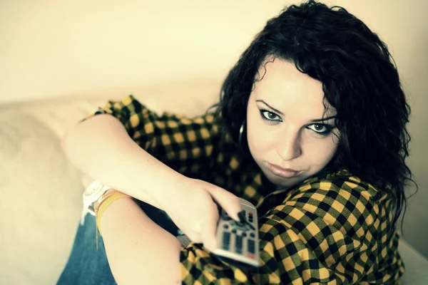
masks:
[[[0,0],[0,107],[224,78],[265,21],[296,2]],[[404,234],[428,257],[428,1],[322,2],[362,19],[397,63],[412,105],[408,162],[419,184]]]

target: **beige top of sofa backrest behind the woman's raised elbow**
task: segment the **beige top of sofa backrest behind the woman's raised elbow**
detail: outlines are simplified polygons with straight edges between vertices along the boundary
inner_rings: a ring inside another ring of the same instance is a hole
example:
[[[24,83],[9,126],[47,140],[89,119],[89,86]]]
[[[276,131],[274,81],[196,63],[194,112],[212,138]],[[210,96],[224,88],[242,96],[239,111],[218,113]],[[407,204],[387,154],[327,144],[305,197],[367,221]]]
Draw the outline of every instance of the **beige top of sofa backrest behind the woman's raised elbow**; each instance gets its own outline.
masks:
[[[218,101],[220,82],[215,79],[192,79],[122,90],[105,90],[99,95],[75,96],[9,106],[9,110],[33,115],[56,135],[62,137],[78,120],[106,105],[108,100],[121,100],[133,94],[151,110],[165,110],[184,115],[200,115]],[[1,106],[0,106],[1,111]]]

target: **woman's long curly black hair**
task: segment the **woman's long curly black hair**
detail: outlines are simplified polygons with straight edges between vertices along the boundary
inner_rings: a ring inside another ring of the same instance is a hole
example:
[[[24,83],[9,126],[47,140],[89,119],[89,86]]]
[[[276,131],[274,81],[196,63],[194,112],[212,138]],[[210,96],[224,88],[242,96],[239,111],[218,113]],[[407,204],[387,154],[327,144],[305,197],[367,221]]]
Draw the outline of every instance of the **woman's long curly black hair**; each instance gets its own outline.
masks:
[[[267,57],[293,62],[322,83],[324,100],[337,110],[335,124],[341,134],[327,169],[345,167],[390,192],[396,224],[406,208],[405,187],[414,183],[404,162],[409,155],[410,107],[385,43],[340,6],[309,1],[282,10],[267,21],[223,82],[216,111],[235,141]]]

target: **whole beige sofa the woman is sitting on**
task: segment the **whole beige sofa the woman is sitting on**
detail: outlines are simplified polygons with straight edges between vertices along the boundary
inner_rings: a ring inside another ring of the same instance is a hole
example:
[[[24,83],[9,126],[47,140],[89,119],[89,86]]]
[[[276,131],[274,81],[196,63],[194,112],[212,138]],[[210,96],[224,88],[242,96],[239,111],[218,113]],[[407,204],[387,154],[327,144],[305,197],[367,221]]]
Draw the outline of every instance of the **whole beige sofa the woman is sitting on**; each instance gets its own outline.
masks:
[[[148,107],[188,115],[218,98],[220,81],[195,79],[133,88]],[[65,98],[0,108],[0,284],[55,284],[81,214],[82,175],[64,157],[60,138],[108,98]],[[428,284],[428,261],[404,240],[402,284]]]

